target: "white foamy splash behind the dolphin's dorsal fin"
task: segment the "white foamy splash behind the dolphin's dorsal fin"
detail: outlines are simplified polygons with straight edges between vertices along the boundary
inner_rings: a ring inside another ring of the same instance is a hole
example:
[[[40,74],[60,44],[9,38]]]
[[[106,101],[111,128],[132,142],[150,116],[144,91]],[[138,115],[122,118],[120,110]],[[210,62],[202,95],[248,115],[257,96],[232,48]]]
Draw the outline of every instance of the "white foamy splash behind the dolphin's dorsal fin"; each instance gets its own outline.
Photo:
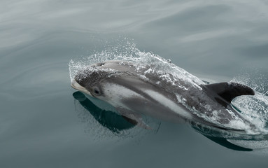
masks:
[[[254,97],[241,96],[232,101],[244,117],[256,125],[260,132],[268,133],[268,89],[267,78],[255,70],[251,73],[242,72],[231,82],[248,85],[255,90]]]

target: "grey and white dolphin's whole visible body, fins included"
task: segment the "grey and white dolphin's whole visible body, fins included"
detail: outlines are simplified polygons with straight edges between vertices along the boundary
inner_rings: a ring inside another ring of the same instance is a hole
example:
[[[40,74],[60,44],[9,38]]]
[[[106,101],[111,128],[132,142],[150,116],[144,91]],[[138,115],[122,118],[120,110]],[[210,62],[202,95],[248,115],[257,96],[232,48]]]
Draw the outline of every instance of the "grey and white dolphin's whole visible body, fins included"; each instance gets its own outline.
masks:
[[[142,115],[172,122],[190,120],[224,130],[237,130],[225,126],[236,120],[251,125],[231,105],[237,96],[254,95],[250,87],[239,83],[214,83],[198,88],[181,78],[177,83],[183,85],[182,88],[163,80],[157,73],[140,75],[149,68],[143,66],[137,70],[132,62],[122,61],[92,64],[75,76],[71,86],[108,102],[130,123],[148,129],[150,127],[143,122]],[[217,123],[199,117],[194,111],[208,118],[213,117],[213,111],[218,111]]]

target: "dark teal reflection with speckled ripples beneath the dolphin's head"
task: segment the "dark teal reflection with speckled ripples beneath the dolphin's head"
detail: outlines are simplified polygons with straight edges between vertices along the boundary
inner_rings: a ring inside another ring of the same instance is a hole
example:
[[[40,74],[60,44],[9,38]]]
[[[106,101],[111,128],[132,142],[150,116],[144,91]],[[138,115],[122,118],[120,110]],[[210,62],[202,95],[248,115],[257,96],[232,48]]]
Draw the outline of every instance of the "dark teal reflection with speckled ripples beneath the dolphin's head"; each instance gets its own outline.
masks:
[[[156,134],[160,128],[160,121],[147,116],[145,116],[143,119],[148,125],[150,125],[152,130],[145,130],[142,127],[135,127],[135,125],[127,118],[124,118],[116,113],[115,109],[109,108],[109,106],[105,108],[105,106],[107,106],[105,102],[99,102],[97,99],[92,98],[94,99],[93,102],[93,100],[85,97],[85,94],[82,92],[74,92],[73,98],[76,99],[80,106],[83,107],[83,109],[76,107],[78,117],[87,124],[86,130],[88,129],[91,134],[96,133],[97,138],[101,136],[106,137],[108,135],[108,132],[106,132],[104,128],[107,128],[113,132],[115,136],[122,138],[134,137],[138,136],[138,134]],[[97,121],[97,123],[99,123],[101,126],[94,121]],[[100,134],[100,132],[103,134]]]

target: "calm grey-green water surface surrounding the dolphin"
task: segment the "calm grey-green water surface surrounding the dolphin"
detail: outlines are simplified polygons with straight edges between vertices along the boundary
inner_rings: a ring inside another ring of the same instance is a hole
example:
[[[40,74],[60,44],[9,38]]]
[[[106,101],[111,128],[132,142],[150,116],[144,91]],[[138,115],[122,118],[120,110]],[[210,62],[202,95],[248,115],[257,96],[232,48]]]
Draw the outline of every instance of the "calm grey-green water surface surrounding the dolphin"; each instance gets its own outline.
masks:
[[[74,99],[68,66],[127,38],[201,78],[266,76],[267,29],[261,0],[2,0],[0,167],[267,167],[184,124],[111,132]]]

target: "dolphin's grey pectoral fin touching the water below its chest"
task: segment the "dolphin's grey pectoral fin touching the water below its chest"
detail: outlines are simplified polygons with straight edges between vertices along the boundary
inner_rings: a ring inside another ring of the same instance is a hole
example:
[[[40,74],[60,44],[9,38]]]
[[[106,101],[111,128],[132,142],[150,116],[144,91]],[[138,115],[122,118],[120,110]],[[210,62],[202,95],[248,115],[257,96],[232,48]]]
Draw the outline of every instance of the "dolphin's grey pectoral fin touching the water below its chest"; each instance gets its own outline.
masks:
[[[139,127],[143,127],[147,130],[152,130],[151,127],[149,127],[148,125],[146,125],[146,123],[143,122],[142,117],[139,113],[134,113],[132,111],[129,111],[128,109],[123,108],[116,108],[116,110],[129,123],[132,123],[133,125],[138,125]]]

